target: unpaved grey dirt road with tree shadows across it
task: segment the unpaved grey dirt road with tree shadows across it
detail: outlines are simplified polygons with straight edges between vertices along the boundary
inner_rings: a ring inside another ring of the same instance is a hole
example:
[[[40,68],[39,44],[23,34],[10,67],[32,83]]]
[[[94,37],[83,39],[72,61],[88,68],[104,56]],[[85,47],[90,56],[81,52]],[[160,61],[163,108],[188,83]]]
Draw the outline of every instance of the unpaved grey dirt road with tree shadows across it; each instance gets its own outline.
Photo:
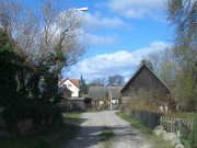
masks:
[[[150,148],[151,145],[139,130],[130,127],[129,123],[115,115],[115,111],[83,113],[81,130],[68,145],[61,148],[102,148],[100,133],[103,126],[113,129],[115,138],[112,148]]]

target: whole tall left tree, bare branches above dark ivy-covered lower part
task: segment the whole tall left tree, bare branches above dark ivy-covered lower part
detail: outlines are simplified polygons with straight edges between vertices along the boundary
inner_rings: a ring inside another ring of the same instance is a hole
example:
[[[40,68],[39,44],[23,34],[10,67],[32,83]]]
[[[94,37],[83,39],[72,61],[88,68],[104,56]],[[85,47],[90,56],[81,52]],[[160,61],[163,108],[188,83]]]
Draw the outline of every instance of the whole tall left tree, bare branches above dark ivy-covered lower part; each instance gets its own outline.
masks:
[[[82,14],[62,12],[61,1],[39,4],[0,0],[0,106],[11,124],[61,116],[59,77],[85,53]]]

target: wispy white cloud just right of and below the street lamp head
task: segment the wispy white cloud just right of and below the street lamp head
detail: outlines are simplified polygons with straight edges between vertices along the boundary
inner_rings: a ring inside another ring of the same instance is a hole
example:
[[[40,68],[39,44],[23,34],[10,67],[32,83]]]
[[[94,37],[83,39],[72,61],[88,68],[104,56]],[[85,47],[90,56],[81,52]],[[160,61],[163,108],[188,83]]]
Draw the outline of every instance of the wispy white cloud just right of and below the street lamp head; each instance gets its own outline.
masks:
[[[84,13],[84,18],[86,20],[86,30],[88,31],[95,31],[99,29],[127,29],[131,30],[131,27],[126,24],[123,20],[119,18],[101,18],[100,13],[91,14],[91,13]]]

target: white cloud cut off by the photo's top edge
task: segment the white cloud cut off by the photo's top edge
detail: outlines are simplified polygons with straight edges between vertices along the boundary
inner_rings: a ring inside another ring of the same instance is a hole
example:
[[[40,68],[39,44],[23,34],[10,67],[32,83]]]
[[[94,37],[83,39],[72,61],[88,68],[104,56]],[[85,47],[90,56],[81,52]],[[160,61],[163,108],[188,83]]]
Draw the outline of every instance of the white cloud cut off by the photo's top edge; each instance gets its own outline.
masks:
[[[155,12],[161,13],[164,10],[163,0],[109,0],[105,4],[97,5],[107,7],[112,12],[132,19],[152,16]]]

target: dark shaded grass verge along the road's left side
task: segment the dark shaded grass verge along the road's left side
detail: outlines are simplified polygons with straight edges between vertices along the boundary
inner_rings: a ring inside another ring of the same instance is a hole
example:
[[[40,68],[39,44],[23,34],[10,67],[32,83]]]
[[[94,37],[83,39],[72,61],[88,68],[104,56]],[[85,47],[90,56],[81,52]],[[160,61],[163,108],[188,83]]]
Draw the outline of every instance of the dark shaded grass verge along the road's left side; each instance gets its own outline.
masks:
[[[0,140],[0,148],[59,148],[59,146],[67,143],[77,130],[79,130],[79,126],[63,124],[58,128],[39,135],[12,137],[7,140]]]

